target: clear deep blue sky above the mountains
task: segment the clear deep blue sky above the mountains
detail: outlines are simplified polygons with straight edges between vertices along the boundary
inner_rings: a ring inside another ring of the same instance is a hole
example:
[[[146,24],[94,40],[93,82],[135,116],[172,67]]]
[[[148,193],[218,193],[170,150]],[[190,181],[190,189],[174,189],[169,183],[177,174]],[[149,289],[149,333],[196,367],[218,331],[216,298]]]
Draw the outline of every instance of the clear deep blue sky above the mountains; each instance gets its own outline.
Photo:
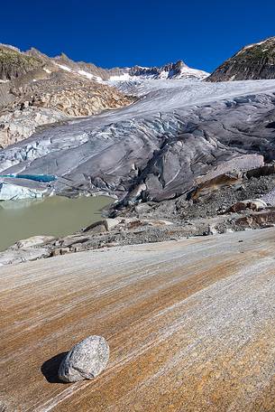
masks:
[[[275,36],[274,0],[3,0],[0,42],[102,67],[183,60],[211,71]]]

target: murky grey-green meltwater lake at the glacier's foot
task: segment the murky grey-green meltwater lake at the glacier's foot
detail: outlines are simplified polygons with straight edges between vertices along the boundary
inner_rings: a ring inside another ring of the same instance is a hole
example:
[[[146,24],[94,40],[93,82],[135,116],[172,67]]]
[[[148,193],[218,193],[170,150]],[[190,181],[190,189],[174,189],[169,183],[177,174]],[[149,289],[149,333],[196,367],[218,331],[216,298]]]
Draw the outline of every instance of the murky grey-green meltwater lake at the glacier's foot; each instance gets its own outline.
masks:
[[[35,235],[67,236],[100,220],[107,196],[0,201],[0,250]]]

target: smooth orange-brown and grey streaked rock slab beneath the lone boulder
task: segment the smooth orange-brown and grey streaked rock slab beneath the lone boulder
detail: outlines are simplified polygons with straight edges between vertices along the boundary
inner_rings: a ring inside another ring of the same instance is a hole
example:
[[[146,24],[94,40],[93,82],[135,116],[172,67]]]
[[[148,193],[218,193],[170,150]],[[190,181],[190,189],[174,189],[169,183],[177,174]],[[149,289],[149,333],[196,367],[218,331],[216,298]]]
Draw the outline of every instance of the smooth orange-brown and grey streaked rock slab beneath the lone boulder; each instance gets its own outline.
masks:
[[[274,237],[263,229],[2,267],[6,411],[273,411]],[[60,383],[62,354],[92,333],[110,345],[107,369]]]

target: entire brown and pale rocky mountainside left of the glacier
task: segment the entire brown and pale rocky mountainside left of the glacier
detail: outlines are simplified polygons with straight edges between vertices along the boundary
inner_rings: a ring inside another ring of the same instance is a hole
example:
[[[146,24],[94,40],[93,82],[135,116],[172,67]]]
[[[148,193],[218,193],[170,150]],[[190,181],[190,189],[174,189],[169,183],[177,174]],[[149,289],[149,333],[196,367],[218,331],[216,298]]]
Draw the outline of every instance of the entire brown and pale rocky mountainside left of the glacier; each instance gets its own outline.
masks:
[[[133,98],[85,70],[70,70],[36,49],[0,44],[0,146],[21,141],[38,126],[121,108]]]

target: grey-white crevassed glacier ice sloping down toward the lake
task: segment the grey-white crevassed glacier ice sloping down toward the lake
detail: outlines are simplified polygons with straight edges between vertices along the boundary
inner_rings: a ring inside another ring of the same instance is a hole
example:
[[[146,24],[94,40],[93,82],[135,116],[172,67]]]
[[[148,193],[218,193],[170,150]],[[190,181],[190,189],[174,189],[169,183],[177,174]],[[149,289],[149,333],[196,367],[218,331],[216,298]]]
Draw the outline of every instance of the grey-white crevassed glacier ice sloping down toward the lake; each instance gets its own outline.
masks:
[[[275,80],[142,80],[121,87],[140,99],[7,147],[0,152],[0,172],[52,174],[59,192],[70,185],[118,197],[145,183],[149,198],[159,199],[160,192],[170,197],[187,191],[221,162],[255,155],[257,164],[257,154],[275,152],[264,127],[274,108]]]

